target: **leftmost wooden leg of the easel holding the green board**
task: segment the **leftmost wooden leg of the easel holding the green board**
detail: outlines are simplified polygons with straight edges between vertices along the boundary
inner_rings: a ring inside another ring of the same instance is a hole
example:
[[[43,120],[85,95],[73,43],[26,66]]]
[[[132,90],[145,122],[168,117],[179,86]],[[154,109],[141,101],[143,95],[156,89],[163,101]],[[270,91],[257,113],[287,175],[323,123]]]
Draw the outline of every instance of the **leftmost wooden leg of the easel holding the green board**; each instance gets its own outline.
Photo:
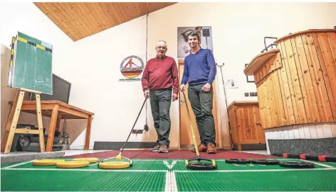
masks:
[[[14,105],[12,106],[11,115],[9,117],[9,121],[7,122],[6,130],[5,130],[5,134],[4,134],[4,140],[6,140],[6,146],[5,146],[5,149],[4,149],[4,153],[11,152],[11,144],[12,144],[13,139],[14,139],[14,135],[15,135],[15,131],[16,131],[16,125],[18,124],[24,93],[25,93],[24,91],[20,90],[19,96],[16,97],[16,99],[14,101]],[[14,111],[13,111],[13,109],[14,109]],[[14,114],[12,114],[12,112],[14,112]],[[7,133],[8,135],[6,135],[6,132],[8,132]]]

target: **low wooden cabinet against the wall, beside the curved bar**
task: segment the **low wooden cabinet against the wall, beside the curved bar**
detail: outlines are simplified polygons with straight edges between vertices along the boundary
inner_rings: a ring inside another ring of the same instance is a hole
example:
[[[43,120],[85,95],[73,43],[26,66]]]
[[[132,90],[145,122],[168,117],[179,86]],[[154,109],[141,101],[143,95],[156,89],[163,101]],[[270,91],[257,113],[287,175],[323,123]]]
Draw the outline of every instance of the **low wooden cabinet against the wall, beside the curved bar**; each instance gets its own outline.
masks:
[[[261,127],[258,101],[233,101],[228,106],[234,148],[266,149],[265,131]],[[253,148],[254,145],[254,148]],[[258,145],[258,146],[257,146]]]

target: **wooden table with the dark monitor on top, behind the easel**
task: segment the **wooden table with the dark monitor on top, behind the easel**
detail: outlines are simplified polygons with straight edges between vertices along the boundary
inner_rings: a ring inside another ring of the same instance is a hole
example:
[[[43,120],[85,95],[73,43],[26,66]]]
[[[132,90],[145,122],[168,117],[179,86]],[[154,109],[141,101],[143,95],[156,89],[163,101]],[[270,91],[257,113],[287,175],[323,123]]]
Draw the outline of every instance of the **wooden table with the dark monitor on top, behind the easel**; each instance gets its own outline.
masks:
[[[13,101],[9,102],[11,105],[13,105],[13,103]],[[23,101],[21,111],[36,114],[36,101]],[[70,106],[61,101],[41,101],[41,111],[43,116],[51,118],[46,152],[51,152],[53,149],[53,137],[56,127],[59,128],[61,125],[61,119],[88,119],[85,150],[89,149],[91,122],[93,120],[93,115],[95,115],[94,113],[85,111],[81,108],[76,108],[75,106]]]

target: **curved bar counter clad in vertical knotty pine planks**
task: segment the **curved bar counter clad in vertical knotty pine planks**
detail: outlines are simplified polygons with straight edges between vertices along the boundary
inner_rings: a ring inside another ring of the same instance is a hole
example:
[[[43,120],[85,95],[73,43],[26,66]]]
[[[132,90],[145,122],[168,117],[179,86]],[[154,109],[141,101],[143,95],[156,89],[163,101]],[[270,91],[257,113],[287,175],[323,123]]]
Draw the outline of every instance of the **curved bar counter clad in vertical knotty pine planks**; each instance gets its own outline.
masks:
[[[263,128],[336,122],[336,30],[308,30],[276,42],[280,52],[253,73]]]

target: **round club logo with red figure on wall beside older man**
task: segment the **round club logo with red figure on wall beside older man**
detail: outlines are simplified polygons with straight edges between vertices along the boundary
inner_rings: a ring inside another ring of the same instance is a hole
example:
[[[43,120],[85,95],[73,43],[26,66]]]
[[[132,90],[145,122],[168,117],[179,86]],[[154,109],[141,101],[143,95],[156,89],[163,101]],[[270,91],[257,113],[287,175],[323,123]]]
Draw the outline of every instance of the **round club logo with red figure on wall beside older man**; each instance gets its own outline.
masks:
[[[144,61],[136,56],[131,55],[122,60],[120,64],[120,72],[126,77],[125,79],[119,79],[119,81],[140,81],[139,75],[144,70]]]

